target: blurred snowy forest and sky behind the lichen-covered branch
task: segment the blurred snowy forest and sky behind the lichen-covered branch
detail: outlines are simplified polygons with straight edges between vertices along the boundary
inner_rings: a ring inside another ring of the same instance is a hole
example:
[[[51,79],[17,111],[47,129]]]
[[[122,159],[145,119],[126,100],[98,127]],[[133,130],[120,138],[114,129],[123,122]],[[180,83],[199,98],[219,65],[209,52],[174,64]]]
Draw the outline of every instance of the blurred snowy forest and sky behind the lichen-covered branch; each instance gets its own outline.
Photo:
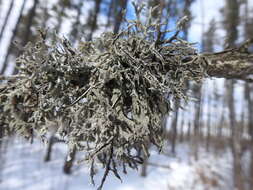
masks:
[[[253,37],[253,0],[0,0],[0,75],[17,73],[16,58],[22,47],[37,40],[40,30],[54,31],[74,46],[106,31],[117,34],[125,19],[136,17],[132,2],[147,8],[159,5],[154,16],[166,22],[167,29],[187,16],[179,36],[196,43],[199,52],[233,48]],[[163,151],[158,154],[149,146],[151,156],[138,171],[120,172],[122,182],[109,176],[104,189],[252,190],[252,90],[252,82],[244,80],[187,81],[189,101],[173,105]],[[31,144],[17,136],[4,138],[0,190],[95,189],[89,168],[77,163],[81,155],[71,154],[68,158],[67,147],[54,135],[47,145],[36,139]],[[102,173],[96,173],[99,184]]]

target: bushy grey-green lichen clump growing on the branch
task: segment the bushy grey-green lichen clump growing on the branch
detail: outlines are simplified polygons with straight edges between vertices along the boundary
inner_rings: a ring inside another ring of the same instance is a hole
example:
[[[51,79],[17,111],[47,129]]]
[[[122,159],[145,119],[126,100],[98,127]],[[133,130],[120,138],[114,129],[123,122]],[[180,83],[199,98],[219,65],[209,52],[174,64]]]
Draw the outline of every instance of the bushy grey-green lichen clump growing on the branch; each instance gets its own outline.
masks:
[[[69,147],[84,152],[92,181],[95,164],[105,168],[99,188],[109,172],[120,179],[119,167],[137,168],[137,153],[148,155],[148,143],[161,148],[170,101],[185,98],[186,80],[204,77],[206,60],[178,31],[166,38],[171,33],[160,31],[152,11],[145,22],[127,21],[119,34],[104,33],[78,48],[44,33],[29,43],[16,61],[19,73],[2,77],[5,134],[65,135]]]

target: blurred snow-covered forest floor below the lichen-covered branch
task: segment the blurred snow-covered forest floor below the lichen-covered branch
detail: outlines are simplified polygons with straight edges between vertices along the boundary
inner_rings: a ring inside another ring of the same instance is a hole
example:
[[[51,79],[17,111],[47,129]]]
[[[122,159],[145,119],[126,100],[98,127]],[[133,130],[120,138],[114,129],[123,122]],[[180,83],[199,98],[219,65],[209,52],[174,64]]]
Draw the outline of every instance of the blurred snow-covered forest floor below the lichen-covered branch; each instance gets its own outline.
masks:
[[[2,154],[0,171],[0,190],[93,190],[90,184],[89,170],[85,165],[74,165],[74,172],[67,176],[62,173],[66,147],[55,144],[52,160],[43,161],[46,147],[40,142],[29,144],[25,140],[15,139],[9,142],[7,152]],[[109,176],[104,190],[231,190],[232,160],[230,151],[214,155],[201,150],[199,161],[194,161],[188,145],[177,147],[177,156],[151,153],[152,164],[163,167],[148,167],[148,176],[142,178],[138,171],[128,170],[121,174],[121,183]],[[96,184],[102,177],[102,171],[96,175]]]

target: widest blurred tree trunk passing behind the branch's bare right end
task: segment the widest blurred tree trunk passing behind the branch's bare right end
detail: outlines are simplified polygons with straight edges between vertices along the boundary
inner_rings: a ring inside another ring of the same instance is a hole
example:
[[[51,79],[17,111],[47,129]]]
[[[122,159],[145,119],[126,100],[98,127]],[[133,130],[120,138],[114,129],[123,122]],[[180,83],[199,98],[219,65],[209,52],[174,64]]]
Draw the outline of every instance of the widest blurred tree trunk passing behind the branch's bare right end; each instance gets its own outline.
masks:
[[[227,32],[226,45],[229,47],[235,47],[235,42],[238,38],[238,24],[239,24],[239,1],[238,0],[226,0],[225,10],[225,29]],[[244,190],[244,178],[241,165],[242,147],[239,138],[238,124],[236,123],[236,113],[234,105],[234,80],[228,80],[228,110],[229,121],[231,128],[231,150],[233,155],[233,175],[234,175],[234,187],[239,190]]]

